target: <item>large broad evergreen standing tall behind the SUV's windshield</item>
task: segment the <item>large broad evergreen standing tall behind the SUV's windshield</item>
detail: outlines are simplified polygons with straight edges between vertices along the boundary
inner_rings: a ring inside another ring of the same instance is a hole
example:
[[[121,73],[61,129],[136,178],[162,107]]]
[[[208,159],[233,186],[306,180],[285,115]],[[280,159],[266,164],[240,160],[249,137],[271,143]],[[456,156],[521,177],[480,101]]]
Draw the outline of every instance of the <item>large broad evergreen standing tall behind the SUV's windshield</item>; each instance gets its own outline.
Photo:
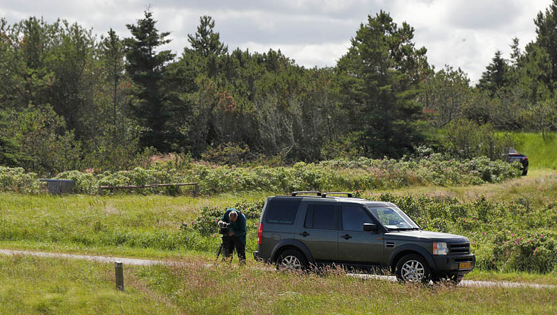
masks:
[[[414,28],[399,28],[389,13],[368,16],[340,58],[340,83],[350,125],[363,154],[401,156],[419,143],[422,107],[416,102],[427,68],[426,49],[414,48]]]

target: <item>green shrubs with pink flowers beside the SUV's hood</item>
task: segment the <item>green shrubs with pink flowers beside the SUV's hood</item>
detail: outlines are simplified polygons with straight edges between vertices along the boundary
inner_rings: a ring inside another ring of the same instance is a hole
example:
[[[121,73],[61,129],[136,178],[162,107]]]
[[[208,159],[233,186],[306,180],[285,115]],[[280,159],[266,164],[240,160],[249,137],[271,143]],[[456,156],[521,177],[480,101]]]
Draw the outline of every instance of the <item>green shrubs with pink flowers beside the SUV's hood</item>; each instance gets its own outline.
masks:
[[[389,193],[377,199],[397,204],[423,229],[467,236],[480,269],[557,272],[554,205],[531,209],[517,201],[463,203],[453,197]]]

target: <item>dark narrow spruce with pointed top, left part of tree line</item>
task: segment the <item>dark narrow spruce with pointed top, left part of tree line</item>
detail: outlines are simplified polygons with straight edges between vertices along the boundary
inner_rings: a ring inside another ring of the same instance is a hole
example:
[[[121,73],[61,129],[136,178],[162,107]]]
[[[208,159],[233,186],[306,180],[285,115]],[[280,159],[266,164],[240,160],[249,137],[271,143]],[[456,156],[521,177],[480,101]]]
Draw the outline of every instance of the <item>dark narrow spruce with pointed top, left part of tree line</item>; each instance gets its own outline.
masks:
[[[159,51],[170,40],[168,32],[159,33],[155,28],[157,21],[152,12],[146,10],[143,19],[136,24],[127,24],[133,37],[125,38],[127,73],[136,85],[136,102],[132,102],[132,111],[145,129],[140,143],[144,147],[155,147],[162,152],[172,150],[181,136],[168,124],[173,115],[173,104],[164,95],[163,82],[166,65],[174,58],[169,50]]]

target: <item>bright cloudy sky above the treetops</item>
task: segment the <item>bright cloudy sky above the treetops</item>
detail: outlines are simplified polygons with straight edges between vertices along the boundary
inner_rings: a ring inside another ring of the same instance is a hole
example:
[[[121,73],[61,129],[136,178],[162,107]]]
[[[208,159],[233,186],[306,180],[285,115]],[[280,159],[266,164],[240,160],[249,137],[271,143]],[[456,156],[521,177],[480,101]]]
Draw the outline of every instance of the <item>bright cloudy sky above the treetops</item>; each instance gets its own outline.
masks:
[[[97,34],[143,17],[150,3],[159,31],[171,31],[166,49],[180,54],[201,15],[210,15],[229,51],[281,49],[306,67],[334,66],[368,15],[391,13],[414,26],[417,47],[437,69],[461,67],[477,82],[497,49],[509,57],[512,38],[521,47],[535,39],[533,19],[551,0],[0,0],[0,17],[13,24],[31,15],[78,22]]]

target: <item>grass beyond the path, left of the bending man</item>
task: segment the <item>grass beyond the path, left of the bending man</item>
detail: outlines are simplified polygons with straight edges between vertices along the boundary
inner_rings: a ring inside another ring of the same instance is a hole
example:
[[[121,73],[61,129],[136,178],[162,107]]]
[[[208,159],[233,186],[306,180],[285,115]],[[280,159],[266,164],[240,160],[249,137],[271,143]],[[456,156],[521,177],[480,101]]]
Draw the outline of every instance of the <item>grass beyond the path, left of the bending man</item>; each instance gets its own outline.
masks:
[[[180,226],[194,220],[202,207],[225,207],[237,201],[232,195],[212,199],[159,195],[0,196],[0,242],[8,243],[10,248],[48,249],[52,245],[55,250],[108,250],[111,254],[126,252],[132,256],[146,252],[156,256],[173,256],[188,250],[212,252],[218,248],[218,237],[185,233]],[[248,200],[262,198],[260,194],[243,196]],[[256,233],[255,227],[252,230],[249,232]]]

